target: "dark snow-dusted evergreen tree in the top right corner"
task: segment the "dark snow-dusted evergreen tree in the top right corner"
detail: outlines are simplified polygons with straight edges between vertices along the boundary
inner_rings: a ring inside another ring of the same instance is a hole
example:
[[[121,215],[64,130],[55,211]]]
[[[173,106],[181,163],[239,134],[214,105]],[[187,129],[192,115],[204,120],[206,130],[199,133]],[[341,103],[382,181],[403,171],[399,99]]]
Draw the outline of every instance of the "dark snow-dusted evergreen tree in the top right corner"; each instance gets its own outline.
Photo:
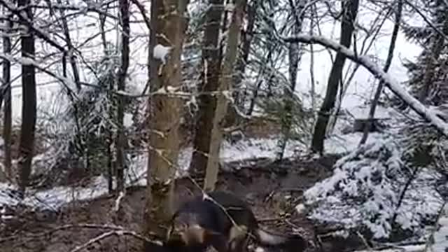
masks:
[[[448,98],[448,87],[444,84],[448,73],[448,3],[442,0],[418,1],[414,6],[425,12],[430,23],[403,27],[409,40],[423,45],[416,62],[405,63],[410,76],[407,84],[420,102],[437,106]]]

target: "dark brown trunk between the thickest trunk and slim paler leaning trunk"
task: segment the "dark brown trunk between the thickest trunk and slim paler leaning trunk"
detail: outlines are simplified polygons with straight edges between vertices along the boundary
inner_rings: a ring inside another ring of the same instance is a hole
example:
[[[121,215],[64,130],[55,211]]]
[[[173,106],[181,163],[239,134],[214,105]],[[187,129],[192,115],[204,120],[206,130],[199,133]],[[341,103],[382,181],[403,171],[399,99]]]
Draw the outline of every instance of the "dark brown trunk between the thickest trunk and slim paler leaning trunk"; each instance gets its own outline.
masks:
[[[202,49],[202,83],[198,99],[198,114],[193,139],[193,157],[190,162],[190,171],[202,173],[207,169],[207,160],[211,139],[211,120],[213,120],[216,97],[209,94],[218,89],[219,72],[221,71],[221,53],[218,45],[219,31],[221,27],[221,16],[223,0],[210,0],[209,8],[204,25],[204,45]]]

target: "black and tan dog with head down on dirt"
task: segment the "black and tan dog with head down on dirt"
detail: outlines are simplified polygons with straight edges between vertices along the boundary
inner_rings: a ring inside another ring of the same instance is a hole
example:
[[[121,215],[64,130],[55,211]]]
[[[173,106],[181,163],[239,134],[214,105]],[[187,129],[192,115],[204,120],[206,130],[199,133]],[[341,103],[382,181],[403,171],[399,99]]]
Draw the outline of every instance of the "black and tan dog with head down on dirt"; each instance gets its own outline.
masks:
[[[186,246],[202,251],[209,246],[218,252],[246,251],[249,238],[288,252],[304,251],[308,246],[299,235],[286,237],[262,230],[248,204],[223,191],[184,202],[172,218],[168,239],[176,235]]]

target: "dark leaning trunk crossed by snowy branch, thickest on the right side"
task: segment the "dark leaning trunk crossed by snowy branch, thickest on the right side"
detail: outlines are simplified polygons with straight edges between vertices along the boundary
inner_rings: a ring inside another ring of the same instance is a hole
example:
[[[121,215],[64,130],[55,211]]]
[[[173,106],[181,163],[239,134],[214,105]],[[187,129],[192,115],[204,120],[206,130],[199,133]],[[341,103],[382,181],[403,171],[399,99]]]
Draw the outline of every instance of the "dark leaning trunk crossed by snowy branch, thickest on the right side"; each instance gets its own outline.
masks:
[[[339,43],[346,48],[350,47],[351,36],[353,34],[353,22],[356,20],[358,13],[359,0],[342,1],[342,22],[341,22],[341,38]],[[335,62],[332,65],[330,76],[328,77],[327,92],[323,99],[323,104],[318,112],[316,125],[314,126],[314,135],[311,141],[311,151],[323,153],[323,140],[325,139],[325,131],[328,125],[328,118],[331,110],[334,109],[337,96],[339,81],[342,77],[342,69],[344,68],[346,56],[337,52]]]

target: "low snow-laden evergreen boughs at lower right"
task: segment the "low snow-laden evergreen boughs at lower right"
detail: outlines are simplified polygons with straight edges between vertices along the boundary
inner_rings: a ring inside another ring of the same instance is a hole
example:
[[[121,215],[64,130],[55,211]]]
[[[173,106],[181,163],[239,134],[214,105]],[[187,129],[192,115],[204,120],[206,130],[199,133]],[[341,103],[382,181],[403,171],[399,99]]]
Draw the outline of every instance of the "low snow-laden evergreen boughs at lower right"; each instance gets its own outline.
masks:
[[[407,176],[402,174],[400,147],[395,140],[393,136],[377,139],[339,159],[332,176],[304,193],[305,203],[316,205],[310,218],[346,229],[363,226],[374,238],[384,238],[390,235],[390,220],[396,214],[401,228],[423,232],[421,223],[436,216],[442,205],[433,186],[440,175],[421,169],[397,209]]]

